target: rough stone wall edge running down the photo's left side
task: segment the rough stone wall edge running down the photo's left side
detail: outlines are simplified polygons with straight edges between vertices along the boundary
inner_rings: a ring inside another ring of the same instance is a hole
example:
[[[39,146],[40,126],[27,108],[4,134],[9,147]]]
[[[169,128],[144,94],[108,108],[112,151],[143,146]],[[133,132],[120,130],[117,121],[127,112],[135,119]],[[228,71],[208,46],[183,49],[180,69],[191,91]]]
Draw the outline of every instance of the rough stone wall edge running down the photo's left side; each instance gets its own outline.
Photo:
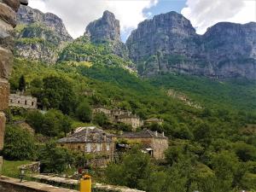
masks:
[[[0,151],[3,149],[5,114],[9,105],[9,75],[13,65],[16,12],[27,0],[0,0]],[[0,168],[3,159],[0,157]]]

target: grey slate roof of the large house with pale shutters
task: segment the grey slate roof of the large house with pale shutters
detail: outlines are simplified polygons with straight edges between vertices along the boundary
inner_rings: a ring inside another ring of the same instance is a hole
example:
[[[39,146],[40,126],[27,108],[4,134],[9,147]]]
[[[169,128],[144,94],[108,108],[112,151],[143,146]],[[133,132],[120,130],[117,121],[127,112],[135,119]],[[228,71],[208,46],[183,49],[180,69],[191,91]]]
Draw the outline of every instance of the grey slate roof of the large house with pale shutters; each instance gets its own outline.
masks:
[[[95,126],[79,127],[72,135],[59,139],[57,143],[111,143],[112,137]]]

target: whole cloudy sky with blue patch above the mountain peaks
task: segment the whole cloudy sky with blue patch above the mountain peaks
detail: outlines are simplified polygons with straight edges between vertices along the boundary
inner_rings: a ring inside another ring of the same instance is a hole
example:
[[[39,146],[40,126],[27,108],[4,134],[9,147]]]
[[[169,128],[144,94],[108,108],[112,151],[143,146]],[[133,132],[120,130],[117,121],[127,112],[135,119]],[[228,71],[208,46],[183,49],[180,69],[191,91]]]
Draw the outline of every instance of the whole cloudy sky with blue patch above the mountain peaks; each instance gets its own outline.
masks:
[[[73,38],[108,9],[120,20],[124,42],[138,23],[169,11],[189,19],[199,34],[220,21],[256,22],[256,0],[29,0],[29,5],[61,17]]]

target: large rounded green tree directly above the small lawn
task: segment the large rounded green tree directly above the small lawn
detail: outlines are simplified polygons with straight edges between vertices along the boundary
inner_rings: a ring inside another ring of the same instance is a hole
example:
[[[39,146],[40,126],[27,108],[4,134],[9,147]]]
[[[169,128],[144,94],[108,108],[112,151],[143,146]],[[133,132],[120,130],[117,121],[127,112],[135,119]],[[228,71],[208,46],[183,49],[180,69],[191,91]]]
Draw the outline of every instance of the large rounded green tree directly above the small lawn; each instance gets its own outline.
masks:
[[[37,148],[31,133],[19,126],[7,126],[3,156],[6,160],[35,160]]]

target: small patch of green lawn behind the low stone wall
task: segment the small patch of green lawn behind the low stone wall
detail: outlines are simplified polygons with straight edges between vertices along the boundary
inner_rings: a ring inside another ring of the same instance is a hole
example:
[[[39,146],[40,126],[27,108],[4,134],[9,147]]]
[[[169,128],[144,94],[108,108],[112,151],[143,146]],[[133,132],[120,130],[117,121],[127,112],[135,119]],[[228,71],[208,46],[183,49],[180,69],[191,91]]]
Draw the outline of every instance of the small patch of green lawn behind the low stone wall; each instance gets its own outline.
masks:
[[[26,164],[31,163],[31,161],[24,160],[24,161],[9,161],[9,160],[3,160],[3,170],[2,174],[7,177],[19,177],[19,166],[23,166]]]

